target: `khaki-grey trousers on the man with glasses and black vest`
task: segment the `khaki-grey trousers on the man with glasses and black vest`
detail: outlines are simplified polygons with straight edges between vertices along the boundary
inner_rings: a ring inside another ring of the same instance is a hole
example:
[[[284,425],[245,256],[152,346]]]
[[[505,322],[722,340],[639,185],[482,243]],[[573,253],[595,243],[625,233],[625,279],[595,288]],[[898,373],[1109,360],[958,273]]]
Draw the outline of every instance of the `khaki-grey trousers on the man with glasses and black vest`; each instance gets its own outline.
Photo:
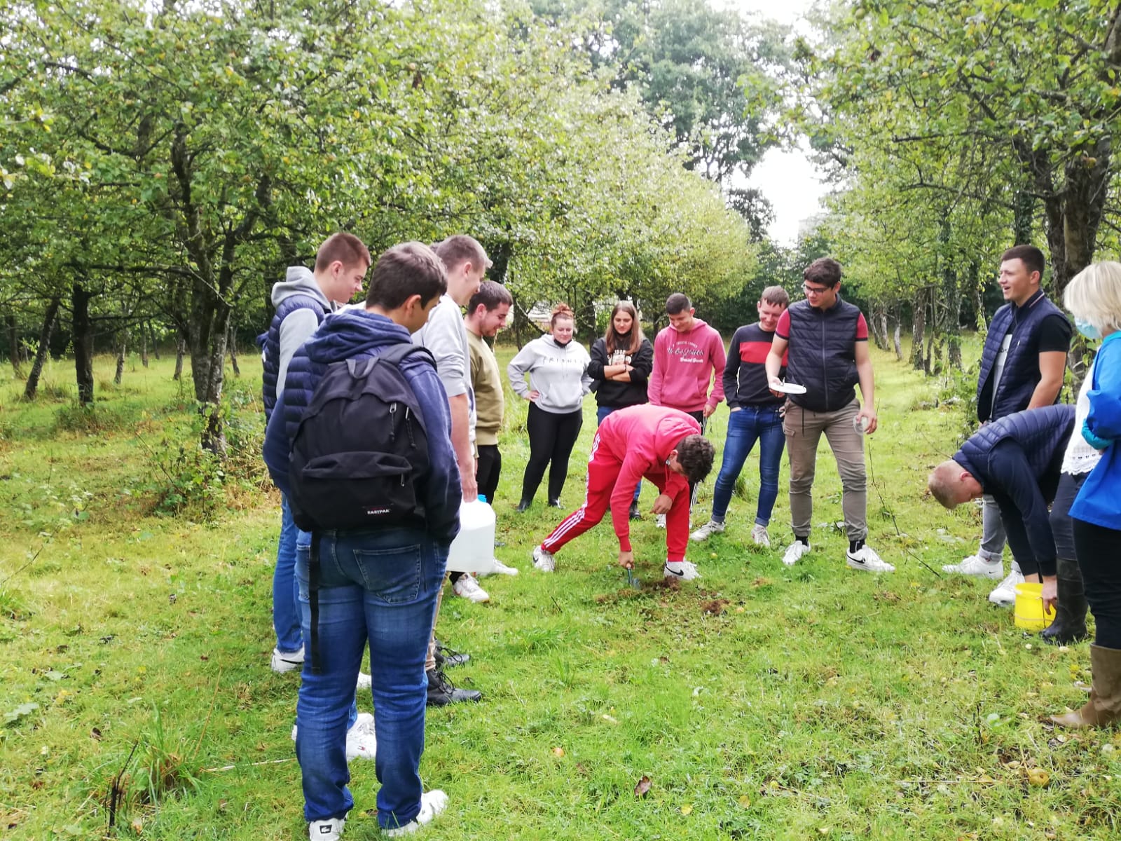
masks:
[[[790,525],[797,537],[808,537],[814,514],[814,472],[817,443],[825,434],[841,474],[841,508],[850,540],[868,536],[868,475],[864,436],[853,427],[860,404],[853,399],[836,412],[810,412],[787,403],[782,432],[790,459]]]

